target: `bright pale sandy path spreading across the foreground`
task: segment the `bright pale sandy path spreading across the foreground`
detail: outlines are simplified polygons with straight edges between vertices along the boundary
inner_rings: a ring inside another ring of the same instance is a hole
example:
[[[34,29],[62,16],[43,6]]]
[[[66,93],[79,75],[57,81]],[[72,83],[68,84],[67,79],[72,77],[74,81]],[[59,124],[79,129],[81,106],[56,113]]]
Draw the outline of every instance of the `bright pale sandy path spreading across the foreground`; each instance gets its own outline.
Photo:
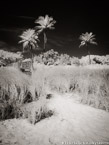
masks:
[[[0,122],[0,145],[109,144],[109,113],[74,98],[55,95],[48,104],[54,116],[36,125],[22,119]]]

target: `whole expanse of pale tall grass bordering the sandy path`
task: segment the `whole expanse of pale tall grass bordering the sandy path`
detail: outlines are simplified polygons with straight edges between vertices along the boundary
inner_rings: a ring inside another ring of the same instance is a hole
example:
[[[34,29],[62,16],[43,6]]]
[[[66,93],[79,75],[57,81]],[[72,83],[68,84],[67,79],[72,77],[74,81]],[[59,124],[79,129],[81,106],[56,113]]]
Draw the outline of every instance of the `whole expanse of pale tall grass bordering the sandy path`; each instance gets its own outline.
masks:
[[[38,66],[32,76],[0,68],[0,119],[24,117],[35,123],[50,116],[47,94],[53,91],[76,93],[81,103],[109,111],[109,68]]]

